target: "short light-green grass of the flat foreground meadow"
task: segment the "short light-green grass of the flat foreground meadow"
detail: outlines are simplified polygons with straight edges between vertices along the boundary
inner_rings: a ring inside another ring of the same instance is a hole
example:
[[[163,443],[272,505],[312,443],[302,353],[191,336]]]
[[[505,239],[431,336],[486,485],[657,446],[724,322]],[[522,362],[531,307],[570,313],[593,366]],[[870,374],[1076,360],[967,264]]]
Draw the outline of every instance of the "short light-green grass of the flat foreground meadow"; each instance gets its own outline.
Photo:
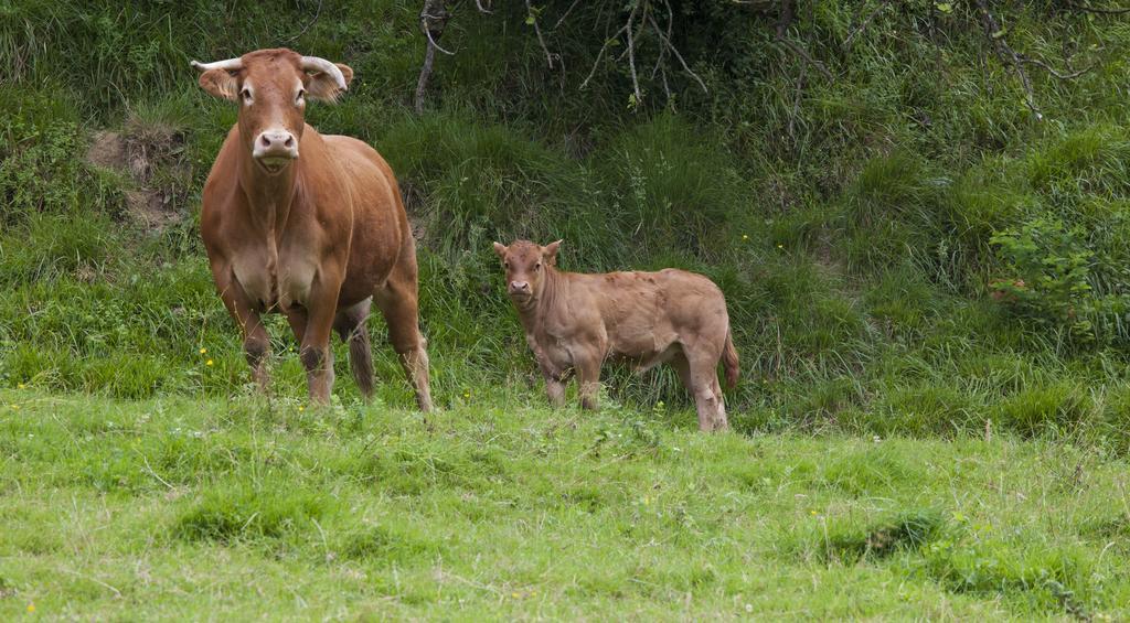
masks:
[[[1127,464],[689,411],[0,393],[0,617],[1130,616]],[[457,614],[458,613],[458,614]]]

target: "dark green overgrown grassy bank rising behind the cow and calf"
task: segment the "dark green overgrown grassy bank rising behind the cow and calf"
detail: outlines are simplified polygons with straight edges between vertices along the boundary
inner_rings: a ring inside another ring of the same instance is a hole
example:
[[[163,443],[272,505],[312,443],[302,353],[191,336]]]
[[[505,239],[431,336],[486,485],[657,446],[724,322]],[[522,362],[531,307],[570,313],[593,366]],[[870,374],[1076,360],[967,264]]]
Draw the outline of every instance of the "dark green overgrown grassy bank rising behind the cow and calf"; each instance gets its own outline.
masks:
[[[460,53],[441,60],[417,116],[406,106],[416,14],[331,5],[339,19],[293,45],[346,60],[358,78],[310,119],[375,144],[409,191],[441,404],[534,371],[490,240],[564,237],[571,270],[676,265],[722,286],[748,380],[729,396],[741,431],[931,436],[992,420],[1028,436],[1130,442],[1124,20],[1003,9],[1014,45],[1095,64],[1067,82],[1033,71],[1045,113],[1035,122],[985,56],[966,3],[883,11],[846,50],[873,3],[820,3],[797,36],[836,80],[809,76],[798,93],[805,69],[772,45],[772,19],[718,0],[679,35],[710,97],[688,82],[677,112],[658,97],[627,112],[612,67],[575,90],[601,43],[596,17],[576,14],[555,35],[573,68],[562,96],[514,3],[460,15],[445,40]],[[202,94],[185,62],[289,41],[289,25],[308,19],[303,3],[264,7],[21,0],[0,11],[0,60],[19,70],[0,85],[0,384],[151,397],[223,396],[246,381],[195,231],[199,190],[235,111]],[[105,126],[147,155],[147,182],[76,158]],[[168,201],[173,222],[160,231],[128,213],[141,185]],[[1077,232],[1037,240],[1026,265],[1083,257],[1089,272],[1032,292],[1026,307],[994,302],[991,280],[1038,280],[993,235],[1041,219]],[[1080,342],[1079,319],[1093,340]],[[281,387],[298,393],[293,340],[280,319],[272,330],[288,356]],[[379,366],[394,370],[379,319],[372,330]],[[626,403],[686,404],[669,370],[610,380]],[[386,393],[407,404],[399,385]]]

